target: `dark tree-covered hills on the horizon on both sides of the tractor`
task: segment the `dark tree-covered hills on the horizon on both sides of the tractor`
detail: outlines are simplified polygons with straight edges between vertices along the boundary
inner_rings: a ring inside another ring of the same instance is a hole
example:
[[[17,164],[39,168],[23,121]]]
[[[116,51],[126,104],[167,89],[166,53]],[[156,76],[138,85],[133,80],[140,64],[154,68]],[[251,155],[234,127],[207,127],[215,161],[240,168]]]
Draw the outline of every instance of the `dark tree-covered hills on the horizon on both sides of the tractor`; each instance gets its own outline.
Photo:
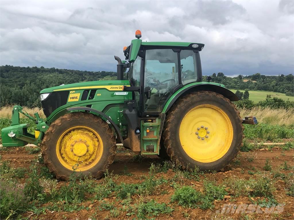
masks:
[[[20,104],[40,106],[39,91],[44,88],[94,80],[116,79],[116,72],[79,71],[44,67],[0,67],[0,106]],[[250,80],[246,80],[250,79]],[[206,81],[206,76],[203,76]],[[229,89],[265,90],[293,94],[293,75],[265,76],[256,73],[243,77],[226,77],[223,73],[212,75],[212,82],[224,84]],[[246,82],[244,82],[246,81]],[[256,81],[256,82],[253,82]]]

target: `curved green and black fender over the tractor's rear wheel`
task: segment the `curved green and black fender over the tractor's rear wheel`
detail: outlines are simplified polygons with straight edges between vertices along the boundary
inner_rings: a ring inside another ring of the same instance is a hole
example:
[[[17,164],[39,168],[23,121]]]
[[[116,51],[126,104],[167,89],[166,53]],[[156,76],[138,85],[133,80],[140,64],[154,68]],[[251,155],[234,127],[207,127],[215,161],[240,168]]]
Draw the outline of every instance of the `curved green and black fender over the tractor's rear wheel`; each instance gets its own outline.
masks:
[[[214,82],[194,82],[187,84],[180,89],[178,89],[166,102],[163,107],[162,113],[166,113],[173,103],[178,100],[180,97],[189,94],[195,91],[211,91],[223,95],[224,97],[230,99],[230,101],[238,101],[238,97],[231,92],[229,89],[226,89],[224,85]]]

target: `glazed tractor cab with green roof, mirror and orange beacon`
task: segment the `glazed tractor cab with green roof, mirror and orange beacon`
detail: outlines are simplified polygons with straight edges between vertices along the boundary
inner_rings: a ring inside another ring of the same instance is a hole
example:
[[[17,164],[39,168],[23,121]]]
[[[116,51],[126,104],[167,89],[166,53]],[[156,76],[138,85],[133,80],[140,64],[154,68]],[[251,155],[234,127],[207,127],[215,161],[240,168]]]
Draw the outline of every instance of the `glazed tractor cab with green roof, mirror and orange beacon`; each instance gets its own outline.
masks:
[[[140,116],[158,116],[175,91],[202,81],[199,51],[204,44],[142,42],[139,38],[124,48],[131,85],[126,90],[134,91]]]

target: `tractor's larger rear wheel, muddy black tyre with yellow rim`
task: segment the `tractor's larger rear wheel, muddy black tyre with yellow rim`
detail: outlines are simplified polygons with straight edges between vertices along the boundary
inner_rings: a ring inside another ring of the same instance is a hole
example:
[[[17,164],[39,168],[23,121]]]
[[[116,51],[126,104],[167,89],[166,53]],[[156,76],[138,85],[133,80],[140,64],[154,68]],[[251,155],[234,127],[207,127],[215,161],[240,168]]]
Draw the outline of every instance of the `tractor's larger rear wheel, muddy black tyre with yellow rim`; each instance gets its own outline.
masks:
[[[229,99],[210,91],[192,92],[169,110],[164,145],[183,169],[220,170],[242,146],[243,126]]]

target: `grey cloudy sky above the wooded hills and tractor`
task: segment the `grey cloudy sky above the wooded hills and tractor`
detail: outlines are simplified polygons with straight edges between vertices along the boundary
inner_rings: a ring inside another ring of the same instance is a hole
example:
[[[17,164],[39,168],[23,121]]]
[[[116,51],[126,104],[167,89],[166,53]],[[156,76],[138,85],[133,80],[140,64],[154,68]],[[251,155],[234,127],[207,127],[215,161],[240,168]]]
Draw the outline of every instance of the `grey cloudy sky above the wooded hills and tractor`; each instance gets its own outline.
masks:
[[[0,64],[115,71],[144,41],[204,43],[204,75],[288,75],[294,1],[1,1]]]

